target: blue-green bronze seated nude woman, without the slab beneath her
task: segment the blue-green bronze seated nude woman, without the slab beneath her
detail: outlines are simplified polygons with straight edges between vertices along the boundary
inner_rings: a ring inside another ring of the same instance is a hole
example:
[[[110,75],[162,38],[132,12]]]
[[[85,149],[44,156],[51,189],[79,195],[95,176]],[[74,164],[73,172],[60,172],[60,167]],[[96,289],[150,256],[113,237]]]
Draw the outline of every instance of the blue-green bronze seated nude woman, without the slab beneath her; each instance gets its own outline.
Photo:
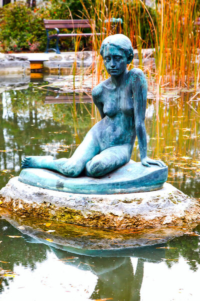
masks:
[[[100,54],[110,77],[93,88],[92,99],[102,119],[88,131],[71,158],[29,156],[22,160],[22,168],[49,169],[66,177],[78,177],[85,171],[86,176],[100,177],[129,162],[136,136],[141,164],[165,167],[162,161],[146,155],[147,85],[140,69],[126,69],[133,59],[130,40],[121,34],[109,36],[103,40]]]

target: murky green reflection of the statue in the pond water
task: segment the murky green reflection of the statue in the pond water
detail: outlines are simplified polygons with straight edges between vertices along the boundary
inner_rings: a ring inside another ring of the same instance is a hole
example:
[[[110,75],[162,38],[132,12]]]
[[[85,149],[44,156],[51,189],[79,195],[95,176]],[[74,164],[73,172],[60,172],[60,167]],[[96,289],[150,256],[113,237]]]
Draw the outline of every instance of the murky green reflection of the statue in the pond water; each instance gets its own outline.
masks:
[[[60,259],[71,256],[71,253],[60,249],[52,248],[52,250]],[[112,251],[113,256],[114,254],[115,251]],[[137,258],[135,270],[133,270],[130,254],[134,256],[134,259]],[[90,296],[91,299],[112,298],[114,301],[140,301],[144,263],[146,261],[161,261],[161,258],[165,256],[165,250],[156,250],[154,246],[138,247],[131,250],[121,250],[121,256],[120,252],[117,256],[91,257],[78,255],[77,259],[73,259],[74,263],[65,263],[78,266],[80,269],[90,270],[98,277],[95,289]]]

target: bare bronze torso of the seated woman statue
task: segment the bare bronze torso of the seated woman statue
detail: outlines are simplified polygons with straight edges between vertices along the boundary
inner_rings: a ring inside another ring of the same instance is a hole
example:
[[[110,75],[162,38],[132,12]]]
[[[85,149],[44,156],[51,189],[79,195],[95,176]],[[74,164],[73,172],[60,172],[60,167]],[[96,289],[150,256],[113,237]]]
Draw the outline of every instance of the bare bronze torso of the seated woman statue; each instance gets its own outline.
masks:
[[[133,144],[135,123],[130,81],[127,79],[123,85],[113,87],[108,79],[101,85],[99,101],[103,104],[105,117],[92,128],[100,149],[125,143]]]

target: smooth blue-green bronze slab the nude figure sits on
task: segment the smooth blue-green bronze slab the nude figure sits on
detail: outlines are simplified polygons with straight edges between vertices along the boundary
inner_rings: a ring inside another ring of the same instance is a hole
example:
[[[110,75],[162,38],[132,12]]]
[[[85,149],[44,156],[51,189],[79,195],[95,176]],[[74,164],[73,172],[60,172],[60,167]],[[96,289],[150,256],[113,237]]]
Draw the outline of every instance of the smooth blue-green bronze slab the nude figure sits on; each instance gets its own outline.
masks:
[[[67,178],[44,169],[24,169],[19,181],[41,188],[80,194],[117,194],[157,190],[167,179],[167,167],[146,168],[130,162],[116,171],[99,177]]]

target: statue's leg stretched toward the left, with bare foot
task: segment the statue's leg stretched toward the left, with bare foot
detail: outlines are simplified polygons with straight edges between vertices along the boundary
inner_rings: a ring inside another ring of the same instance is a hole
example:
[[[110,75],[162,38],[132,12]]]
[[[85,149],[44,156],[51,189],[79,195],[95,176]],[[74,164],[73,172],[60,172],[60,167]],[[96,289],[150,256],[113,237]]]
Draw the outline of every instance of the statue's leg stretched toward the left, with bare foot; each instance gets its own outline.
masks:
[[[57,171],[66,177],[77,177],[85,164],[99,153],[99,145],[89,131],[71,158],[54,160],[52,156],[29,156],[22,160],[22,168],[45,168]]]

